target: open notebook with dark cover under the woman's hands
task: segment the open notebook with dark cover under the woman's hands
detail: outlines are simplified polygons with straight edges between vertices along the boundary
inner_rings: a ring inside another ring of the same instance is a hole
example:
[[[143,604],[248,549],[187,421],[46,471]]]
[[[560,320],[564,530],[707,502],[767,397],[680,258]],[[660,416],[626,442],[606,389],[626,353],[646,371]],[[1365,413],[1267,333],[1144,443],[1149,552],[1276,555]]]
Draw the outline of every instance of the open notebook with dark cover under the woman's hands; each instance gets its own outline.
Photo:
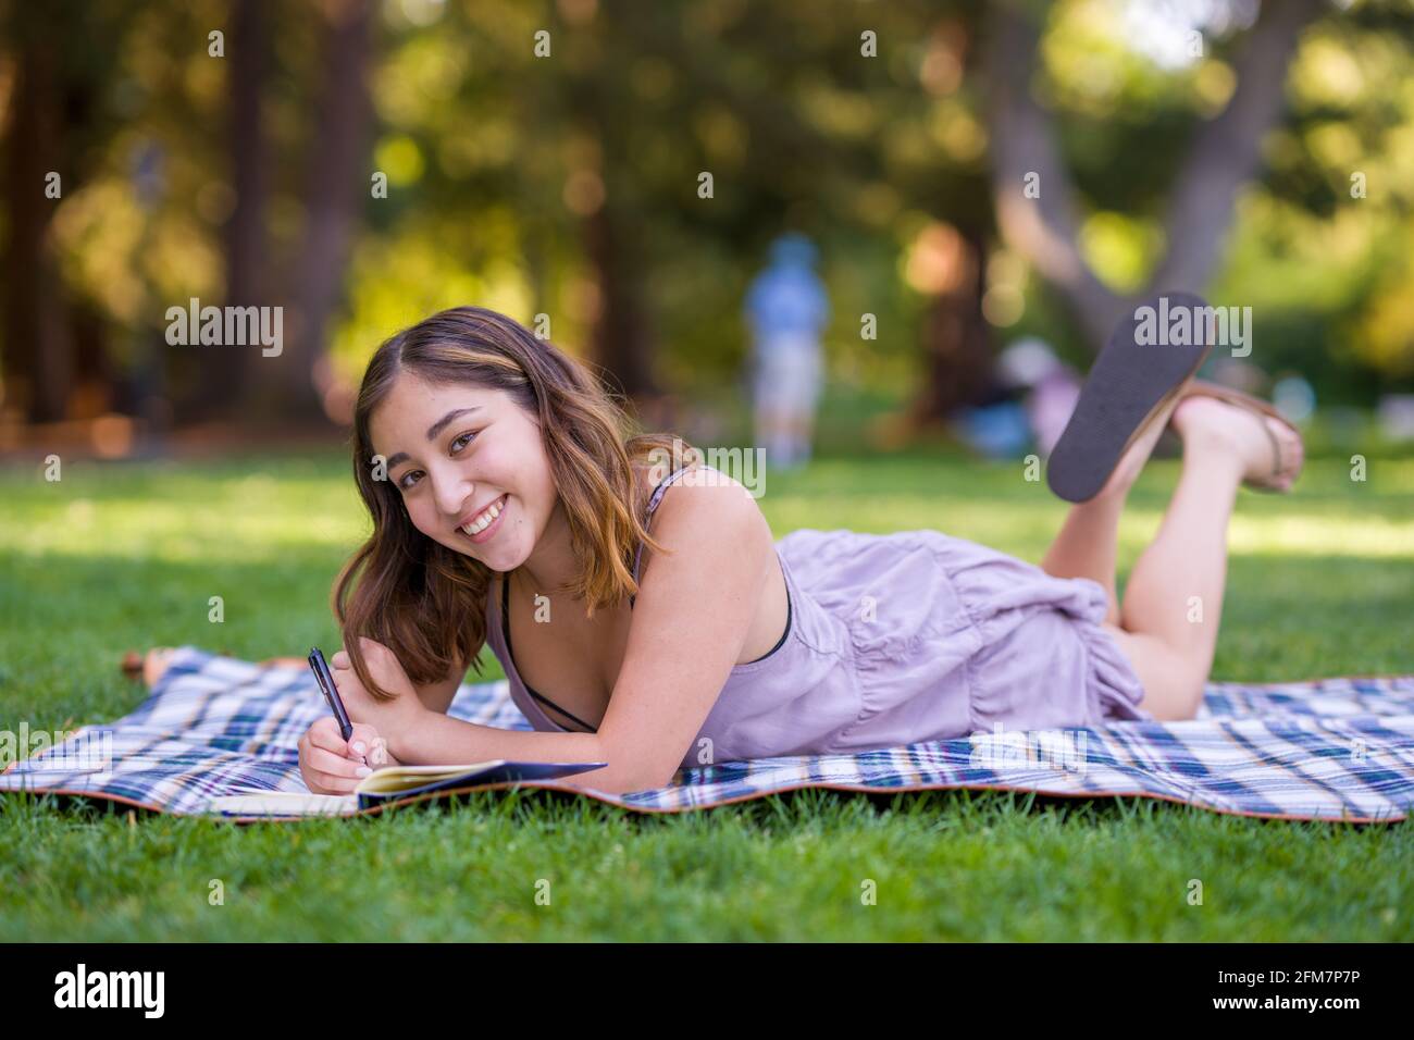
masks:
[[[590,763],[533,763],[493,758],[469,765],[385,765],[359,781],[351,794],[307,791],[250,791],[211,798],[206,812],[222,816],[352,816],[376,805],[416,798],[431,791],[481,787],[513,780],[554,780],[608,765]]]

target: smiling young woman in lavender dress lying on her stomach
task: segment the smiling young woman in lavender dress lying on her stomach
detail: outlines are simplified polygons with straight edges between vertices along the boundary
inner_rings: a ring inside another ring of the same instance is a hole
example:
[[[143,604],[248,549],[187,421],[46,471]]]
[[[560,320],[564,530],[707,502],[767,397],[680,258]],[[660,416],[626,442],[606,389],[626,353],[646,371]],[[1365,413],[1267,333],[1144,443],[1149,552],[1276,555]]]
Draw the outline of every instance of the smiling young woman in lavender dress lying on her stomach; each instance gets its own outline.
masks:
[[[1184,471],[1121,604],[1118,516],[1167,423]],[[995,723],[1192,717],[1237,487],[1284,491],[1302,457],[1290,424],[1175,383],[1038,567],[937,531],[776,542],[741,484],[624,427],[580,362],[495,311],[378,349],[354,430],[373,531],[334,589],[356,724],[348,743],[332,717],[305,733],[311,790],[389,761],[520,758],[604,761],[566,782],[625,792]],[[536,732],[447,716],[486,642]]]

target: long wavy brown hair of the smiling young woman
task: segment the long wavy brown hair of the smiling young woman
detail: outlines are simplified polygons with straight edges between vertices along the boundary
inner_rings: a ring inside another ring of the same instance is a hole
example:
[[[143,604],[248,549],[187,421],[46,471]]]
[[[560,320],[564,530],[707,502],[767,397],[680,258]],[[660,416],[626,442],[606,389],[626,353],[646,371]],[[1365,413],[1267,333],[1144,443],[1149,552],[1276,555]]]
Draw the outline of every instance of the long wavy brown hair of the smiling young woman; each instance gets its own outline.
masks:
[[[344,649],[378,700],[395,695],[369,675],[361,635],[392,649],[419,686],[445,679],[458,662],[481,675],[477,658],[486,641],[492,573],[413,526],[386,471],[375,475],[369,422],[402,372],[433,383],[505,391],[539,422],[578,565],[577,579],[563,591],[585,603],[587,617],[638,593],[632,567],[639,542],[665,550],[648,535],[650,488],[642,460],[665,454],[684,466],[701,460],[679,437],[625,437],[629,419],[617,395],[583,362],[496,311],[452,307],[390,337],[368,364],[354,412],[354,481],[373,533],[344,565],[332,591]]]

